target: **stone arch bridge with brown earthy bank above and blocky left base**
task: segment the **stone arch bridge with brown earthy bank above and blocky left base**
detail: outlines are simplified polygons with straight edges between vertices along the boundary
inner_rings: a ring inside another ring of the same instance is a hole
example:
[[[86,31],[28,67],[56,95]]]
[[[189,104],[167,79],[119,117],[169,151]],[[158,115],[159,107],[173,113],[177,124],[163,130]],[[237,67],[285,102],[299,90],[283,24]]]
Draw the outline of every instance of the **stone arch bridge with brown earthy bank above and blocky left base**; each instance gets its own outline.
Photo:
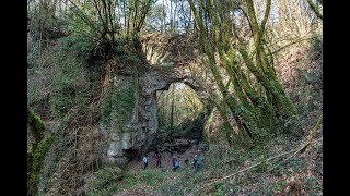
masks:
[[[172,83],[182,82],[191,87],[206,103],[209,94],[205,86],[212,83],[203,79],[205,72],[198,52],[198,40],[182,35],[145,35],[140,38],[142,56],[151,69],[140,78],[142,84],[135,103],[129,128],[109,130],[107,160],[125,159],[127,151],[136,147],[147,150],[155,143],[158,125],[156,91],[167,90]]]

